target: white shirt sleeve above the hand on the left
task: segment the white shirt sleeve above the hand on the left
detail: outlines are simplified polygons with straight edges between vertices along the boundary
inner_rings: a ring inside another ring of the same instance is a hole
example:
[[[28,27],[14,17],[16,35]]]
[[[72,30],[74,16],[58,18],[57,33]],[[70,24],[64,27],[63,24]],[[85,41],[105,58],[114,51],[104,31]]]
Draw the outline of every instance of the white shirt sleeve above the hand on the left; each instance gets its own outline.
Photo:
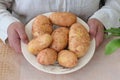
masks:
[[[0,0],[0,39],[3,42],[7,38],[8,26],[13,22],[19,21],[7,10],[7,8],[10,8],[12,1],[13,0]]]

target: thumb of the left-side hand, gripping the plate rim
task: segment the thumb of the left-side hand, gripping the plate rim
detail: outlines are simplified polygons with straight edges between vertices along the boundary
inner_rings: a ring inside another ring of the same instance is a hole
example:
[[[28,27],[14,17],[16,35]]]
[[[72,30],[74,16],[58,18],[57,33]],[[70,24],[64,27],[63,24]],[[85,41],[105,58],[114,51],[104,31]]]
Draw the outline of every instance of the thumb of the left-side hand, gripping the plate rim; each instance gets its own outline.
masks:
[[[20,36],[20,39],[24,42],[24,43],[28,43],[28,37],[25,33],[25,29],[24,28],[18,28],[17,29],[18,35]]]

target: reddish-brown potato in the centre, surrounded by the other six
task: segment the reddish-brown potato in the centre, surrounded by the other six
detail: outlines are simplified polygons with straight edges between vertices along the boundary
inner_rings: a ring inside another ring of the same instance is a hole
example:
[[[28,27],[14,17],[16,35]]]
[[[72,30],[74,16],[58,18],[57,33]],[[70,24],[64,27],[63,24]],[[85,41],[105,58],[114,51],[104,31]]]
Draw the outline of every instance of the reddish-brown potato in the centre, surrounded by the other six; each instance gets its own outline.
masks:
[[[66,48],[68,44],[68,33],[69,29],[65,27],[59,27],[52,33],[53,42],[51,44],[51,48],[60,51]]]

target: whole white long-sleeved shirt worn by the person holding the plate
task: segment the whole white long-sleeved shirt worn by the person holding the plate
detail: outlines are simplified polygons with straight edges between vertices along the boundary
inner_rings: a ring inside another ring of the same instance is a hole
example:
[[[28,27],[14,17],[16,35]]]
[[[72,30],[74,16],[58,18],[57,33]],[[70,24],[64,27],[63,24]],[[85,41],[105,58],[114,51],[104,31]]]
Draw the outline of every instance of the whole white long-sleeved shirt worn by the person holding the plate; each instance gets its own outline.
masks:
[[[27,23],[38,14],[54,11],[72,12],[87,21],[97,18],[106,28],[120,25],[120,0],[107,0],[99,9],[100,0],[0,0],[0,38],[7,38],[7,28],[15,21]],[[6,10],[12,3],[12,15]],[[13,17],[14,16],[14,17]]]

